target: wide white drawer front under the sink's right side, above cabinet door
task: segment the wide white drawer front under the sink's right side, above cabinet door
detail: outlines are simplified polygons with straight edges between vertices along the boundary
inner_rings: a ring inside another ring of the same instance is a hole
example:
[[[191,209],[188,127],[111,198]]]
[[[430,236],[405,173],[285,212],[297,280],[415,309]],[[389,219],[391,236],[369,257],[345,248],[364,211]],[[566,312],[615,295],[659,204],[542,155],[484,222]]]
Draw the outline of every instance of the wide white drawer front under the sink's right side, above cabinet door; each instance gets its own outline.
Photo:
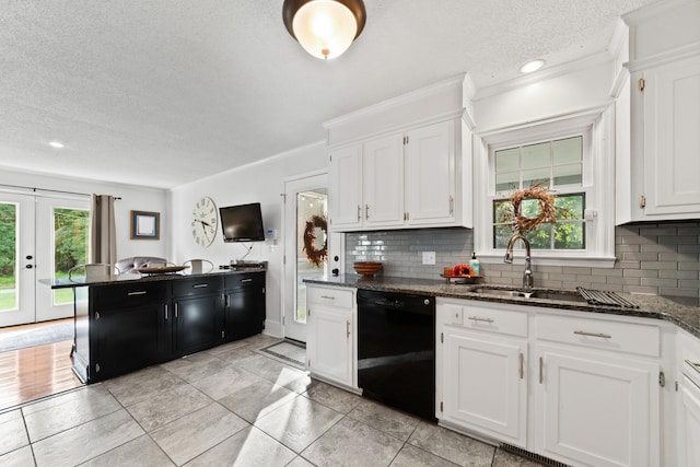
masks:
[[[661,354],[657,326],[569,316],[537,316],[537,339],[641,355]]]

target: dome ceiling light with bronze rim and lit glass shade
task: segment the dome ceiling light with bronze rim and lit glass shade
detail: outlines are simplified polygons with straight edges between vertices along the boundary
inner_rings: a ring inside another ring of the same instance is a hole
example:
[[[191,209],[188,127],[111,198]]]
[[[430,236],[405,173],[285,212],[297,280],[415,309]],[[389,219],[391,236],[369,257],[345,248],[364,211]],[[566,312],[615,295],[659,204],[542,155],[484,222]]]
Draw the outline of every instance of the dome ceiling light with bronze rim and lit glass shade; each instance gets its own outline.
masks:
[[[284,0],[287,31],[316,58],[336,58],[358,38],[366,11],[362,0]]]

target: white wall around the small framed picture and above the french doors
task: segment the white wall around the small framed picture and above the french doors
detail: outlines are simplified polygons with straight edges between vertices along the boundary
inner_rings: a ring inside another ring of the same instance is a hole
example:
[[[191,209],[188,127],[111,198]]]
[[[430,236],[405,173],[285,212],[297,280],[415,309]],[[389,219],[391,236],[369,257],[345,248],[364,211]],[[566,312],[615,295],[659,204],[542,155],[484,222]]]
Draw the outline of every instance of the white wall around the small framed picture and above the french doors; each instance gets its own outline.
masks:
[[[31,190],[12,189],[2,185],[13,185],[44,190],[61,190],[81,194],[113,195],[121,199],[115,202],[115,221],[117,223],[117,257],[159,256],[166,257],[168,235],[164,232],[167,225],[167,192],[163,189],[138,187],[130,185],[107,184],[83,178],[52,177],[36,173],[16,172],[2,168],[0,171],[0,191],[12,190],[20,194],[32,194]],[[37,191],[42,196],[50,196],[48,191]],[[90,198],[85,196],[88,206]],[[161,213],[161,240],[130,240],[130,212],[150,211]]]

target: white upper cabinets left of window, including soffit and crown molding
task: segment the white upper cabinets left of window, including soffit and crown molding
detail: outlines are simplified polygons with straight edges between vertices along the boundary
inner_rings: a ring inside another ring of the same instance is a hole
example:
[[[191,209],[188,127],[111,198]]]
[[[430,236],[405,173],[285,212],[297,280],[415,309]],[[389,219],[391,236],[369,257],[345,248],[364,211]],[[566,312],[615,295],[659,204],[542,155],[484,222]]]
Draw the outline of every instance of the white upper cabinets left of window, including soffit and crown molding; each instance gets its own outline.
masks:
[[[335,232],[472,223],[467,78],[325,124]]]

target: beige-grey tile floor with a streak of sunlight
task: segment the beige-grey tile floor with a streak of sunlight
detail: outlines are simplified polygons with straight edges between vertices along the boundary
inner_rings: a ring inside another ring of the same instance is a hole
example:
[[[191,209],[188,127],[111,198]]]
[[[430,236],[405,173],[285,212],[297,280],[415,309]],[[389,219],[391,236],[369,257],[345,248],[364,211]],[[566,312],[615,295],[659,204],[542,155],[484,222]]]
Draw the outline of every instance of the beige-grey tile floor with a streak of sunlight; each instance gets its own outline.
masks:
[[[537,465],[258,352],[278,340],[255,336],[0,413],[0,465]]]

